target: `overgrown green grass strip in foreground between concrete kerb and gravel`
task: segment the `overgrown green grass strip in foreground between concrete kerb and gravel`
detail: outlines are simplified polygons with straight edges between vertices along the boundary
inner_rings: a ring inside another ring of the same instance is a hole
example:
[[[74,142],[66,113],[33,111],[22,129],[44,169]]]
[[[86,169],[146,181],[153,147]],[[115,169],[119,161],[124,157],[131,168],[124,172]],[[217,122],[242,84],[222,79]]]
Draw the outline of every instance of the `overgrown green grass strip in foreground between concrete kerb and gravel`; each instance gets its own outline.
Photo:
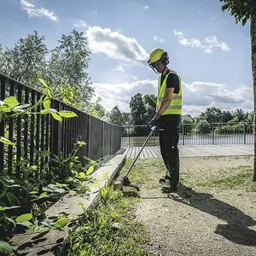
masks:
[[[97,208],[84,211],[81,224],[69,233],[63,255],[145,255],[147,239],[135,218],[136,201],[112,187],[103,188]]]

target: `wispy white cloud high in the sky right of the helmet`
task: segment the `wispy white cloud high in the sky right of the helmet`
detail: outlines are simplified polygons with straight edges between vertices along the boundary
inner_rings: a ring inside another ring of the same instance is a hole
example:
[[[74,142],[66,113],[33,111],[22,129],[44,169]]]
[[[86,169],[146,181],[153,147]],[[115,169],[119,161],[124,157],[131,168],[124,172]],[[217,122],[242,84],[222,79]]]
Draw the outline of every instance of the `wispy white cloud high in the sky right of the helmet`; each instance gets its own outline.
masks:
[[[220,48],[224,51],[230,50],[230,47],[221,41],[218,41],[216,36],[205,38],[203,41],[196,38],[185,38],[183,32],[173,30],[174,35],[177,37],[179,44],[183,46],[190,46],[192,48],[201,48],[206,53],[212,53],[212,49]]]

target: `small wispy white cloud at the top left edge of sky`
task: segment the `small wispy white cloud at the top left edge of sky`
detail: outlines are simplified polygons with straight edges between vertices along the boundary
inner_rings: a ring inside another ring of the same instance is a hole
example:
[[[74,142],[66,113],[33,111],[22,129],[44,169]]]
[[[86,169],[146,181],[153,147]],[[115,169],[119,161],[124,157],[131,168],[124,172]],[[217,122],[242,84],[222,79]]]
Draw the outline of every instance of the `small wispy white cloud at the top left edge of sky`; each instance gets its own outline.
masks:
[[[57,21],[57,16],[54,14],[54,12],[45,8],[37,8],[32,1],[20,0],[20,5],[22,9],[26,10],[29,17],[46,17],[49,20]]]

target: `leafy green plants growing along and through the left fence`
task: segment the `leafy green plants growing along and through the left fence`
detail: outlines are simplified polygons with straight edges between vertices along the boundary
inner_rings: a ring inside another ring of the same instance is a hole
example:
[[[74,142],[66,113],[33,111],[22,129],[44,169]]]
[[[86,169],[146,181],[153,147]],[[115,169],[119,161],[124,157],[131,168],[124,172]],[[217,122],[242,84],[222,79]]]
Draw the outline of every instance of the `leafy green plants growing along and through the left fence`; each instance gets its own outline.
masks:
[[[39,81],[44,85],[43,96],[33,106],[20,104],[15,96],[9,96],[0,101],[0,122],[20,115],[33,114],[50,114],[59,122],[63,118],[77,117],[77,114],[72,111],[57,111],[51,108],[51,102],[56,98],[67,103],[71,102],[70,99],[73,98],[71,87],[65,84],[65,88],[59,88],[55,93],[55,90],[43,79]],[[40,112],[32,112],[40,105],[44,106]],[[8,175],[6,168],[1,170],[0,234],[3,235],[0,235],[0,253],[14,253],[15,246],[8,241],[15,233],[24,232],[24,230],[62,229],[71,220],[61,215],[55,219],[55,223],[48,224],[44,221],[44,211],[62,195],[69,193],[87,196],[90,185],[94,184],[90,174],[94,172],[96,161],[87,160],[87,163],[82,165],[77,152],[85,143],[79,139],[73,144],[72,152],[66,157],[62,152],[60,155],[49,154],[49,151],[39,152],[40,156],[48,156],[49,161],[44,163],[43,170],[36,175],[34,172],[38,171],[38,166],[30,166],[29,160],[24,157],[21,157],[20,162],[16,164],[20,165],[20,178]],[[5,148],[9,146],[15,148],[15,142],[10,141],[6,135],[0,137],[0,143],[3,143]]]

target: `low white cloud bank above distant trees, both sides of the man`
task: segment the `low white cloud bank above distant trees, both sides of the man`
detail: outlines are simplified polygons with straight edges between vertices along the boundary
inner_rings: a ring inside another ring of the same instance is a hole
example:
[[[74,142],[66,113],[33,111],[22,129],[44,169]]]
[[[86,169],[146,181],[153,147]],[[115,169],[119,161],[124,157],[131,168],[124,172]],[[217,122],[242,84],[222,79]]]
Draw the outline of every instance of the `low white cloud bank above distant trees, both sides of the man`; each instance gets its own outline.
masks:
[[[131,96],[137,92],[157,95],[157,80],[137,80],[123,84],[94,84],[96,97],[102,98],[104,108],[111,110],[118,106],[121,111],[129,112]],[[245,84],[239,88],[228,90],[225,84],[210,82],[183,83],[183,114],[196,116],[208,107],[218,107],[223,110],[244,111],[253,109],[253,89]]]

